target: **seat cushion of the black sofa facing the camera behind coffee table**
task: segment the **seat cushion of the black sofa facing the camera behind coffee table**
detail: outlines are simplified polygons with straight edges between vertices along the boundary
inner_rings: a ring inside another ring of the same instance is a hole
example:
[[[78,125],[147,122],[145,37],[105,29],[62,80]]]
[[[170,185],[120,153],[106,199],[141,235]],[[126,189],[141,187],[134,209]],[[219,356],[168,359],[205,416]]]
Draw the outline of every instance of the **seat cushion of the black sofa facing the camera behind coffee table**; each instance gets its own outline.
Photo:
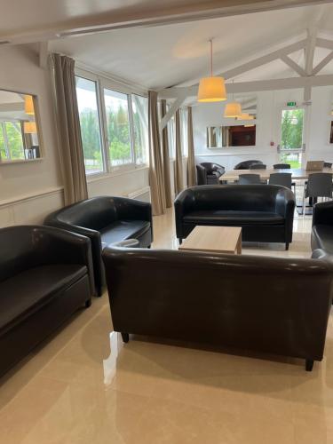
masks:
[[[283,225],[284,218],[274,212],[197,210],[187,213],[184,221],[188,224],[202,225]]]

